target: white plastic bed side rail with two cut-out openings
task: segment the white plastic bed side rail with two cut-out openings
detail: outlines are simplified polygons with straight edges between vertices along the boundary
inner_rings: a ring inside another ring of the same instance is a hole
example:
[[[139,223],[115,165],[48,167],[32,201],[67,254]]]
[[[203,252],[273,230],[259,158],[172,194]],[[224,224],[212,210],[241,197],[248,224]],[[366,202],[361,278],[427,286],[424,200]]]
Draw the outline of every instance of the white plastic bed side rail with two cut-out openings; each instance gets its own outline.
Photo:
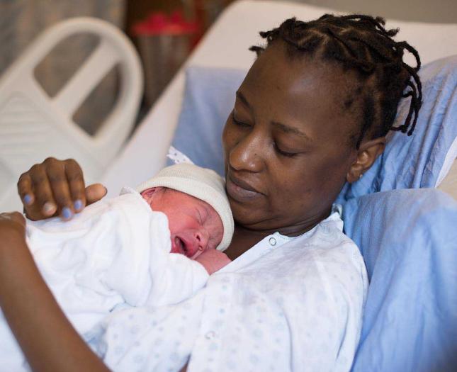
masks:
[[[35,79],[34,69],[62,40],[83,33],[96,35],[99,43],[51,98]],[[95,135],[89,135],[74,123],[73,115],[116,65],[118,99]],[[132,130],[141,95],[137,52],[111,23],[72,18],[45,30],[0,79],[0,210],[20,207],[18,176],[51,155],[77,159],[88,182],[100,179]]]

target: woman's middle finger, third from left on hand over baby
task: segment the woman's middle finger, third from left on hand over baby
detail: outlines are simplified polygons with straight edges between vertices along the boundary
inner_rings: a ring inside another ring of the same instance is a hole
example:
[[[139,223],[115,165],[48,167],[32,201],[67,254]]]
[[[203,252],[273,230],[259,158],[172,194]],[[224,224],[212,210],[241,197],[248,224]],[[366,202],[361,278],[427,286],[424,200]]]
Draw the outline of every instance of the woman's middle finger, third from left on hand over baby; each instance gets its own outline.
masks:
[[[74,210],[64,162],[47,158],[44,164],[46,165],[46,174],[52,196],[57,203],[57,213],[63,220],[69,220],[73,217]]]

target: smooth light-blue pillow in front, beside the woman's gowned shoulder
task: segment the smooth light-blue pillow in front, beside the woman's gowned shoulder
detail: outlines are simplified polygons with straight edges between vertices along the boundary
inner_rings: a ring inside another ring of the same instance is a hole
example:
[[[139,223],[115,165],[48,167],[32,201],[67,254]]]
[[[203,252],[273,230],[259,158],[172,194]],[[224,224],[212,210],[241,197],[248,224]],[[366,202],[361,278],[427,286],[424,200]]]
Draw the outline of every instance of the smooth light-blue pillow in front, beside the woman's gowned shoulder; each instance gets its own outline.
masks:
[[[457,203],[436,189],[352,198],[370,287],[353,371],[457,371]]]

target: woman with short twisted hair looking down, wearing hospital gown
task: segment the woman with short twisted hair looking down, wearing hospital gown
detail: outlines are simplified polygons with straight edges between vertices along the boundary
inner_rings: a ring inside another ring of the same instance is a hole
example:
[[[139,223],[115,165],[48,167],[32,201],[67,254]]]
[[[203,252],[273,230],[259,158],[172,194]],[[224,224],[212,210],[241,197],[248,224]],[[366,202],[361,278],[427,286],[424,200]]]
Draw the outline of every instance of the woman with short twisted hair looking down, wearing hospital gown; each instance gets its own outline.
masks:
[[[237,222],[225,253],[235,261],[164,317],[167,337],[157,342],[157,328],[142,329],[149,354],[132,360],[140,370],[176,371],[189,356],[190,371],[349,370],[366,272],[332,203],[344,183],[357,181],[383,152],[389,130],[412,133],[421,101],[417,52],[395,42],[397,31],[383,24],[369,16],[326,15],[308,23],[292,18],[261,33],[267,45],[252,47],[259,57],[223,133],[227,195]],[[417,67],[402,62],[405,49]],[[405,96],[411,97],[410,115],[392,128]],[[18,191],[33,219],[55,213],[71,218],[104,194],[101,185],[84,189],[74,161],[55,159],[23,174]],[[3,215],[0,233],[6,237],[0,243],[0,305],[30,365],[37,371],[105,370],[40,278],[21,216]],[[179,328],[186,311],[203,313],[201,322]],[[122,312],[117,326],[108,320],[100,336],[107,346],[98,354],[115,368],[131,365],[115,356],[110,337],[134,314]],[[142,347],[130,338],[118,345],[130,343],[120,354]],[[167,342],[174,344],[161,354]],[[148,364],[154,357],[160,361]]]

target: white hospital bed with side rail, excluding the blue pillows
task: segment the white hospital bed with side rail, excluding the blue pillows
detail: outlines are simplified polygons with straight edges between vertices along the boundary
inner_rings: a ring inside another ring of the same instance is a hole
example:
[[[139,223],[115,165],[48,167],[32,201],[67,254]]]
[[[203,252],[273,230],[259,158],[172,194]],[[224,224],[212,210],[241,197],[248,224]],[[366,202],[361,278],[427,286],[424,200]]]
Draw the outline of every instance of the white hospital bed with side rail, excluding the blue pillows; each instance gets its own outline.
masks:
[[[140,184],[166,164],[188,67],[247,71],[254,60],[247,48],[259,43],[259,30],[278,26],[290,16],[307,20],[322,13],[338,12],[287,2],[236,1],[205,35],[125,146],[142,92],[140,62],[132,45],[119,30],[98,20],[72,19],[47,30],[0,79],[0,210],[21,208],[16,197],[18,176],[49,154],[77,159],[86,181],[102,181],[108,196],[118,193],[125,180]],[[389,20],[388,27],[400,28],[399,37],[417,48],[423,64],[457,53],[457,47],[450,47],[456,45],[457,24]],[[33,69],[52,47],[74,33],[94,33],[101,43],[64,89],[50,98],[36,81]],[[413,62],[412,56],[407,58]],[[74,123],[72,114],[115,64],[120,66],[120,98],[101,129],[88,135]],[[434,186],[457,199],[456,157],[457,140]]]

